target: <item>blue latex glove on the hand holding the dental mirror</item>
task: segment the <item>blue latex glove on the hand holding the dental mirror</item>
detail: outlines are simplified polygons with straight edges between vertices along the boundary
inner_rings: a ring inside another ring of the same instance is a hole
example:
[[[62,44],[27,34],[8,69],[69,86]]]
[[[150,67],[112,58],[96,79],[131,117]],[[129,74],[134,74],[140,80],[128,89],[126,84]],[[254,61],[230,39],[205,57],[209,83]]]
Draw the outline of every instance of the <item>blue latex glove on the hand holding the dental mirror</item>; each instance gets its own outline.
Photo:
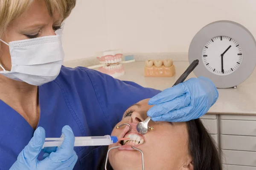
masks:
[[[148,101],[155,105],[147,115],[152,121],[184,122],[200,118],[218,99],[218,90],[208,78],[190,78],[165,89]]]

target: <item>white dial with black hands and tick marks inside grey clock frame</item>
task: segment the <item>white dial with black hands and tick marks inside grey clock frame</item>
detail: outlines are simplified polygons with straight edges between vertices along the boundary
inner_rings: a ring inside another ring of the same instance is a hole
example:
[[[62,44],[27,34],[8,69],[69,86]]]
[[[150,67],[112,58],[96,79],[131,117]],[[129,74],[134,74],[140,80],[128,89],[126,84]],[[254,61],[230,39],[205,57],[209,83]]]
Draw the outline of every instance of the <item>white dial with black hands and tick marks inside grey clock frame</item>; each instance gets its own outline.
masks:
[[[202,59],[204,66],[215,75],[229,75],[241,65],[243,52],[233,38],[218,36],[205,44]]]

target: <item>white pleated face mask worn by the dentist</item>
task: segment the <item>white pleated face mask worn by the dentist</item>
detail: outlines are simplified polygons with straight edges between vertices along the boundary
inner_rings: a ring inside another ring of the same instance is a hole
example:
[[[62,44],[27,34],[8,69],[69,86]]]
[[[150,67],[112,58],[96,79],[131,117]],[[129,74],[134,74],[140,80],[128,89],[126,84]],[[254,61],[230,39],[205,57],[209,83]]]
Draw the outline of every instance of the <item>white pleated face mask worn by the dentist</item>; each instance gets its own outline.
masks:
[[[52,35],[6,43],[9,46],[12,69],[1,75],[16,81],[41,86],[55,80],[64,60],[61,36]]]

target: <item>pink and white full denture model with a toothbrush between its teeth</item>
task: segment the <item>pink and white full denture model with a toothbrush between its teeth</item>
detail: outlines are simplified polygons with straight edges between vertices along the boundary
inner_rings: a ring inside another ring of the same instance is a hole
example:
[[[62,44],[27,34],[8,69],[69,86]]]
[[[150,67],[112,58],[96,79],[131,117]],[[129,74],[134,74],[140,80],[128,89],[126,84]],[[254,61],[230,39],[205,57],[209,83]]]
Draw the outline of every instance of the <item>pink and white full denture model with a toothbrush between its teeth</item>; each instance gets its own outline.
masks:
[[[120,51],[105,51],[102,57],[97,57],[101,64],[106,66],[99,67],[98,71],[111,75],[112,77],[120,77],[125,74],[124,66],[119,63],[122,61],[122,54]]]

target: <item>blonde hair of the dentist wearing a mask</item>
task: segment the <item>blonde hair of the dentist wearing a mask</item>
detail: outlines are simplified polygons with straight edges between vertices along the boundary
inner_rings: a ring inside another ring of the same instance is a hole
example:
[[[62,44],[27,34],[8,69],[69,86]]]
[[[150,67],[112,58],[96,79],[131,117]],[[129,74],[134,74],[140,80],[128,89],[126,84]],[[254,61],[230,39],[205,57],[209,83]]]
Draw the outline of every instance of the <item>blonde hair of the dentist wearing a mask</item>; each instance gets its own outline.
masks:
[[[0,38],[13,20],[23,14],[34,0],[0,0]],[[65,20],[76,5],[76,0],[43,0],[49,15],[55,10],[60,14],[61,22]]]

